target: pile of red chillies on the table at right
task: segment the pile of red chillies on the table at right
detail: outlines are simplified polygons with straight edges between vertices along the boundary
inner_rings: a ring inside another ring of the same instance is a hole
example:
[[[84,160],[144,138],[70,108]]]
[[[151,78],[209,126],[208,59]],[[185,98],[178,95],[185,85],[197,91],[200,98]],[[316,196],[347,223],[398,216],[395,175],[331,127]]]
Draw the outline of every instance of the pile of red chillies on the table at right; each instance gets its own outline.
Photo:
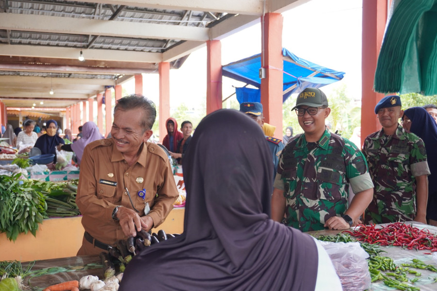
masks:
[[[344,231],[359,241],[394,245],[407,249],[437,251],[437,236],[429,230],[419,229],[409,224],[396,222],[376,228],[375,225],[358,225],[354,231]]]

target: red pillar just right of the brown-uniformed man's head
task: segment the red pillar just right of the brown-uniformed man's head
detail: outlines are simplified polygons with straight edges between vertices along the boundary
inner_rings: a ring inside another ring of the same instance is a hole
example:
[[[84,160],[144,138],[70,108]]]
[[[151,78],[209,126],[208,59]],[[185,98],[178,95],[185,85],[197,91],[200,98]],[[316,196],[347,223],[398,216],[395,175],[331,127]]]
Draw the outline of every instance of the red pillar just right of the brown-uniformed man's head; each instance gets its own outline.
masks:
[[[159,72],[159,140],[167,134],[165,121],[170,117],[170,63],[161,62]]]

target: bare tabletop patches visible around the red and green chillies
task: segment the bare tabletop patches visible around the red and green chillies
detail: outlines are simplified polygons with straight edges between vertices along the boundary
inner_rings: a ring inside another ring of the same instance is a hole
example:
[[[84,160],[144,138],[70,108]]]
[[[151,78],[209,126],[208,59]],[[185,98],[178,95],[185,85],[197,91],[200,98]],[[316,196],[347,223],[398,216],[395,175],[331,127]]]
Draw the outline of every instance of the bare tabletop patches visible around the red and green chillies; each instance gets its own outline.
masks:
[[[437,227],[425,225],[419,222],[411,221],[405,222],[405,224],[411,224],[414,227],[419,229],[427,229],[431,233],[437,234]],[[387,224],[382,224],[380,226],[386,226]],[[379,225],[376,225],[378,227]],[[340,233],[341,230],[320,230],[320,231],[309,231],[308,234],[318,238],[321,235],[336,235]],[[380,253],[380,256],[389,257],[394,260],[394,263],[398,266],[404,263],[411,263],[413,259],[420,259],[425,264],[431,264],[437,266],[437,262],[433,261],[433,254],[430,253],[429,250],[416,250],[416,249],[407,249],[399,246],[380,246],[381,250],[384,250],[386,253]],[[437,256],[437,252],[436,252]],[[421,291],[435,291],[437,290],[437,272],[432,272],[426,269],[414,269],[421,273],[419,280],[415,283],[405,282],[414,287],[419,287]],[[409,277],[414,277],[411,275]],[[376,281],[372,283],[372,287],[368,289],[368,291],[381,291],[381,290],[395,290],[394,288],[389,288],[384,285],[382,281]]]

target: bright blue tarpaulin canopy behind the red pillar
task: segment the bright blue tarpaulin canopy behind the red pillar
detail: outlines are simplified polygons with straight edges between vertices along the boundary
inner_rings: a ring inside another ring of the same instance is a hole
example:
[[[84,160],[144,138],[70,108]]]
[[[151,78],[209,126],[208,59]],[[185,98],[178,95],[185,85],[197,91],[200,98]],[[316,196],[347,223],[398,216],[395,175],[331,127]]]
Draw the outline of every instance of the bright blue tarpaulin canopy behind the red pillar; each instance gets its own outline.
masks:
[[[291,93],[300,92],[307,87],[323,87],[340,81],[345,74],[301,59],[287,49],[282,49],[282,56],[284,60],[282,102],[287,100]],[[261,54],[222,66],[222,74],[228,78],[260,88],[259,68],[261,68]],[[260,102],[259,89],[243,87],[237,88],[236,92],[240,103]]]

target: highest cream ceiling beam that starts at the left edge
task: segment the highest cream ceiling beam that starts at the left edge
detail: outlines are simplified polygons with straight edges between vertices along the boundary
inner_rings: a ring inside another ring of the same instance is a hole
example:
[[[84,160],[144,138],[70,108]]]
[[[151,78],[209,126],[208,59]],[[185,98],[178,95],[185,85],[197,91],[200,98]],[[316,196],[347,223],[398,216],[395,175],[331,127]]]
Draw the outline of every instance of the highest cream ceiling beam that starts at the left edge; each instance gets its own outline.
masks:
[[[2,14],[0,29],[127,38],[208,40],[208,28],[33,14]]]

